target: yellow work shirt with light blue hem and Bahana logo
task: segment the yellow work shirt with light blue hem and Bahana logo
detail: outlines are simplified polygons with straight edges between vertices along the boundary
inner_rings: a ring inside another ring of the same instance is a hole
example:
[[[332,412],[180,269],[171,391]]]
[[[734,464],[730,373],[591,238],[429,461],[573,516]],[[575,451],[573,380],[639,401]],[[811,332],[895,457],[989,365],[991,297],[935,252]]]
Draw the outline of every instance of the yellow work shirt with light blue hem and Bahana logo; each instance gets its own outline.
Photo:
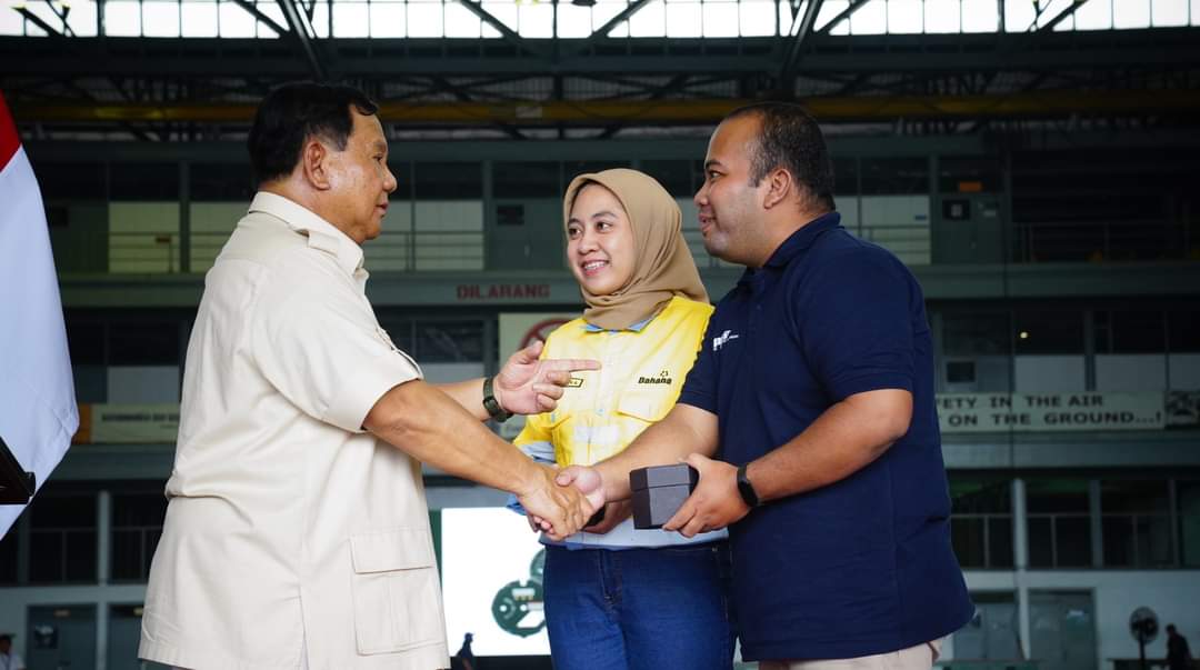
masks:
[[[575,372],[553,412],[526,420],[514,443],[559,466],[594,465],[629,447],[674,407],[696,361],[713,306],[676,297],[661,312],[624,330],[604,330],[577,318],[546,339],[545,358],[599,360],[600,370]],[[725,531],[688,539],[660,530],[637,531],[625,520],[605,536],[577,533],[565,544],[662,546],[713,542]],[[544,538],[544,542],[546,539]]]

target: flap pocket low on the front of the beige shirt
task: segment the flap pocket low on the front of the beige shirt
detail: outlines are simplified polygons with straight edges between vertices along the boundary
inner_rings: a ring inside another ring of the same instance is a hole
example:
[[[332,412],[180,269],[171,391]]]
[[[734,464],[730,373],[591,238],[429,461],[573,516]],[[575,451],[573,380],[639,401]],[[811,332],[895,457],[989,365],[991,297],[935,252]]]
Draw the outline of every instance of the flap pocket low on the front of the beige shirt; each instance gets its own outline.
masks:
[[[433,545],[425,528],[350,537],[354,636],[361,654],[443,644]]]

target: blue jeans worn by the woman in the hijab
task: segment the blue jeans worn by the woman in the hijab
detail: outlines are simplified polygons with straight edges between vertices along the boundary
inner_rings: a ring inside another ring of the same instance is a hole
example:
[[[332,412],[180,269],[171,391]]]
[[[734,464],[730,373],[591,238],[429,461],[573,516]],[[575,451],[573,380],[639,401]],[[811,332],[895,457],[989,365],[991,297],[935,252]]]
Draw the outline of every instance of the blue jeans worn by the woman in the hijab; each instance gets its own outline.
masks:
[[[546,548],[556,670],[728,670],[728,544]]]

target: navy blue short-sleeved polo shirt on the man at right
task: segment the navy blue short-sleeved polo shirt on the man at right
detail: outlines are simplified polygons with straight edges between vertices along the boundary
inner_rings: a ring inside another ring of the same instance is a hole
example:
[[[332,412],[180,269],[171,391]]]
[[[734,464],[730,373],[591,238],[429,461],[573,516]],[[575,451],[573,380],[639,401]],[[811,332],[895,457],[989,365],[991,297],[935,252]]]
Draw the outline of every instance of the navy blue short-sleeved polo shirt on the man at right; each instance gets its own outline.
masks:
[[[730,528],[748,660],[896,651],[973,614],[950,549],[920,286],[838,214],[803,226],[718,303],[679,402],[716,414],[719,455],[742,465],[876,389],[913,394],[902,438],[846,479],[766,503]]]

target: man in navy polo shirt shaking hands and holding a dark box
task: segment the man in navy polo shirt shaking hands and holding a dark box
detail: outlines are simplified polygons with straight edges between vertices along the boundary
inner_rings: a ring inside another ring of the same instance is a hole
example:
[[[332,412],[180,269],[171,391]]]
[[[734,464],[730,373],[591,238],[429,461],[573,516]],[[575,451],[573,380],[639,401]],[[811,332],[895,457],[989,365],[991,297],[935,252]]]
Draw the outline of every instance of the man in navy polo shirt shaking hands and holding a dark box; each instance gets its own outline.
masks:
[[[799,107],[733,112],[704,169],[704,247],[746,270],[671,413],[559,483],[619,499],[630,469],[686,457],[700,484],[665,528],[730,526],[743,658],[930,668],[973,606],[950,549],[920,287],[839,225],[824,139]]]

